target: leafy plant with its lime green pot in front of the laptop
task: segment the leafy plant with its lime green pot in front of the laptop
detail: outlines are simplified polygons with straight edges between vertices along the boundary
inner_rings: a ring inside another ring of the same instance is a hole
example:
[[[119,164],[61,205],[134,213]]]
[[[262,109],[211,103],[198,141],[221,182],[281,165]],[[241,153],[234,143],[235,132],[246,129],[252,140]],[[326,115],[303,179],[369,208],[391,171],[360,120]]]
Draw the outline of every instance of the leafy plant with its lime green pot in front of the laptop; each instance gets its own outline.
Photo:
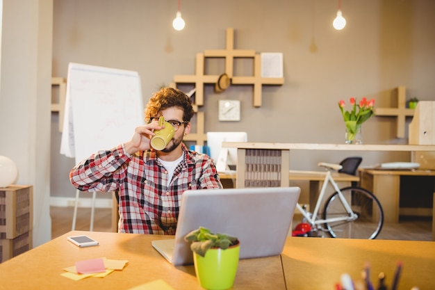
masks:
[[[190,249],[199,284],[208,290],[231,288],[238,267],[238,239],[228,234],[213,234],[205,227],[195,229],[184,239],[191,242]]]

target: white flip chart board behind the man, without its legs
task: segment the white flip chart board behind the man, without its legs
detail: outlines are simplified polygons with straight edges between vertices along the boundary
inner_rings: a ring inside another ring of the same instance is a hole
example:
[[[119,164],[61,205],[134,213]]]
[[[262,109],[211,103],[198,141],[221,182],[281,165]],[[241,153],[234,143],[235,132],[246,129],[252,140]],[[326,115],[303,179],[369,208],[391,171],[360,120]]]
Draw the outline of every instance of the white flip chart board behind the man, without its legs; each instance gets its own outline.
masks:
[[[69,63],[60,154],[79,163],[130,140],[143,109],[138,72]]]

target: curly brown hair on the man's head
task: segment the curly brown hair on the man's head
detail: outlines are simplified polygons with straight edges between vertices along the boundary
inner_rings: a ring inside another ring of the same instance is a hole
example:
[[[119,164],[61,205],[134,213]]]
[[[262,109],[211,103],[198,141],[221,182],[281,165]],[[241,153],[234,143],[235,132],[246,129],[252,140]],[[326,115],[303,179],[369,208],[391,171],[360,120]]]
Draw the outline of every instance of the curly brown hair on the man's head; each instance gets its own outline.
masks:
[[[154,95],[149,99],[147,107],[145,108],[145,121],[149,122],[149,120],[156,117],[159,112],[173,106],[183,110],[184,122],[190,122],[194,114],[192,100],[184,92],[177,90],[177,88],[161,88],[158,92],[154,92]]]

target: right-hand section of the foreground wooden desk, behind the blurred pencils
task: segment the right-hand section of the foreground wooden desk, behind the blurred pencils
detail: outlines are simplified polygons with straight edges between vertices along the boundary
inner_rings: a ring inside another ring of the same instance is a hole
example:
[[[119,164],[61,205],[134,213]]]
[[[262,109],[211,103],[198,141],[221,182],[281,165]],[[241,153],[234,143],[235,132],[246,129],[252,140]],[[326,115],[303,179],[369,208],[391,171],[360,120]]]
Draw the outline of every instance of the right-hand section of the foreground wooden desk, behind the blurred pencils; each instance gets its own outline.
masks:
[[[281,255],[287,289],[331,290],[342,273],[361,279],[361,269],[370,263],[371,280],[386,274],[391,287],[395,264],[403,262],[398,289],[435,289],[435,243],[432,241],[387,241],[291,237]]]

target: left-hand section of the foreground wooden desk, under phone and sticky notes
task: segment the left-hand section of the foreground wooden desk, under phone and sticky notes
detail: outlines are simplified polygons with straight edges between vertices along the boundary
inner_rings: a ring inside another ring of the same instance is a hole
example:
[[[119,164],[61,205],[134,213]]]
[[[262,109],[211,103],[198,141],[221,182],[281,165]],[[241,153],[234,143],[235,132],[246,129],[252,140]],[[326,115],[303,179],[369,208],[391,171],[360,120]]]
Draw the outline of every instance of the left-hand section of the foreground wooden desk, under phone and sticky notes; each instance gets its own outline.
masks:
[[[67,236],[87,234],[100,245],[79,248]],[[155,239],[168,236],[117,234],[110,232],[69,232],[33,250],[0,264],[0,289],[123,289],[163,279],[174,289],[204,290],[193,266],[174,267],[151,246]],[[126,259],[123,271],[104,278],[73,281],[60,275],[76,261],[106,257]],[[240,261],[233,289],[285,289],[279,256]]]

